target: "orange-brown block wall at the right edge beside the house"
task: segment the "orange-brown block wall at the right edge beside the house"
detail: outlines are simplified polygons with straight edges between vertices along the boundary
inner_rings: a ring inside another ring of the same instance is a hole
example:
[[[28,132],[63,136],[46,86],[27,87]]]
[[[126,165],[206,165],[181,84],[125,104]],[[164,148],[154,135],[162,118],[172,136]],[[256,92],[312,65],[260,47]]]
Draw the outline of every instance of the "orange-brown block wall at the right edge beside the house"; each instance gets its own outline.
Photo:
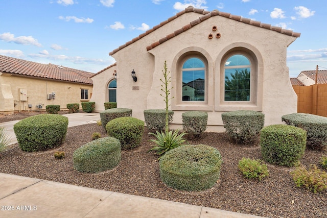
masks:
[[[293,85],[297,94],[297,112],[327,117],[327,84]]]

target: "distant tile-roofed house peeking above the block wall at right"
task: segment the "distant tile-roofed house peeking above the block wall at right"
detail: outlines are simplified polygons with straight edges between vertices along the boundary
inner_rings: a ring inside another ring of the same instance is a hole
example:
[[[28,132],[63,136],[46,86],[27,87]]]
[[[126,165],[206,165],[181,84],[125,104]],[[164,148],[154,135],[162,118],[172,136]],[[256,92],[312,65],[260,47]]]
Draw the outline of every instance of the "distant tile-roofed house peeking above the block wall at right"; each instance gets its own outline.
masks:
[[[317,78],[316,78],[317,76]],[[327,83],[327,70],[303,70],[296,78],[300,83],[305,86]],[[294,84],[295,85],[295,84]]]

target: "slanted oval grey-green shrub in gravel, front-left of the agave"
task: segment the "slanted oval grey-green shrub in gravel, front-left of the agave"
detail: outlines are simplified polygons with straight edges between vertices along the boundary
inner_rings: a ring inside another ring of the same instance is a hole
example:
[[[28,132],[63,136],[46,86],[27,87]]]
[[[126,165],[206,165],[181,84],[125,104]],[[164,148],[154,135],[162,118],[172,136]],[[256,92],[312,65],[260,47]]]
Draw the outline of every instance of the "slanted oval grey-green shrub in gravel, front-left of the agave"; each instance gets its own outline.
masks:
[[[107,171],[117,166],[121,158],[121,144],[112,137],[90,141],[73,154],[74,168],[83,173]]]

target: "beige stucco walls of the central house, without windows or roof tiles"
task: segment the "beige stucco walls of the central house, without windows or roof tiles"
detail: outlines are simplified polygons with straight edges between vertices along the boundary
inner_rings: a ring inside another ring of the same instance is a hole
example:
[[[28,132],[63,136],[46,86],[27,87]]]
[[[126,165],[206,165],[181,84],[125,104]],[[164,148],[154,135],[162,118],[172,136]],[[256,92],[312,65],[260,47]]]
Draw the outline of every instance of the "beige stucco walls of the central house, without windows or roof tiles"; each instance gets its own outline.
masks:
[[[181,127],[181,114],[196,110],[208,113],[207,131],[224,131],[221,113],[233,110],[255,110],[265,114],[265,125],[282,123],[281,116],[297,111],[297,95],[286,65],[287,47],[296,39],[269,29],[256,27],[223,16],[212,16],[196,26],[147,51],[146,47],[174,33],[199,18],[195,12],[170,20],[139,40],[112,54],[116,66],[91,79],[94,81],[96,110],[107,101],[105,89],[117,72],[117,106],[131,108],[132,116],[144,120],[146,109],[164,109],[160,90],[162,70],[167,61],[170,71],[170,109],[174,111],[173,128]],[[217,27],[217,30],[213,30]],[[220,37],[215,37],[219,33]],[[213,34],[213,38],[209,38]],[[224,101],[224,64],[232,54],[245,55],[251,62],[251,94],[248,102]],[[205,63],[205,101],[181,100],[181,66],[188,57],[199,57]],[[131,77],[134,69],[137,82]],[[135,89],[136,86],[136,89]],[[99,102],[99,104],[98,104]]]

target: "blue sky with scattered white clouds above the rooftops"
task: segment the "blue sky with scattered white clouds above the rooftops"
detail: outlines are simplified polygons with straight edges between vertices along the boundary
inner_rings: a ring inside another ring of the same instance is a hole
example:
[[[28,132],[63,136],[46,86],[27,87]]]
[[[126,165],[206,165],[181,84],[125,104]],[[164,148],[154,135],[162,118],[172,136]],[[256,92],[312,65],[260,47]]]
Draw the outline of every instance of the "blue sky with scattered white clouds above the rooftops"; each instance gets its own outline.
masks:
[[[190,5],[301,33],[290,77],[327,69],[324,0],[1,0],[0,54],[98,72],[115,62],[109,52]]]

